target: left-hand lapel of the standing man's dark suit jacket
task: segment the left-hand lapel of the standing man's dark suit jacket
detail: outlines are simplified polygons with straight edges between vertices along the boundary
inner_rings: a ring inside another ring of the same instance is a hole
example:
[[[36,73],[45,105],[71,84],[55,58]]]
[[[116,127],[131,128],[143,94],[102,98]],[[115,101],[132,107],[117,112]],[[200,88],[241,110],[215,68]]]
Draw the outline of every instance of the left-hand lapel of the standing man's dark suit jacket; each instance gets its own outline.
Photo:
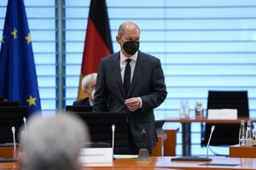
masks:
[[[123,82],[122,82],[122,77],[120,74],[120,53],[117,53],[113,56],[113,62],[111,63],[112,65],[112,72],[113,72],[113,76],[115,77],[115,80],[117,81],[120,91],[121,93],[125,96],[125,88],[123,86]]]

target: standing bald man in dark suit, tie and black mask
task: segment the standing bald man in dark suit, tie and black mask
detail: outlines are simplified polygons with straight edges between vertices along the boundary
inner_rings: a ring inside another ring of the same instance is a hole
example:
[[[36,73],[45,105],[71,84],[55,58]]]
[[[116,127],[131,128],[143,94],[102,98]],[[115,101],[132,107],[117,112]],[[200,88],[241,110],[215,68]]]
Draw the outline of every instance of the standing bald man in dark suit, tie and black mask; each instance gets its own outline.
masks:
[[[126,21],[119,26],[116,41],[120,51],[101,60],[93,109],[125,111],[130,154],[138,154],[143,143],[143,129],[151,154],[157,142],[153,110],[166,99],[167,92],[160,59],[138,50],[139,38],[140,29],[135,23]]]

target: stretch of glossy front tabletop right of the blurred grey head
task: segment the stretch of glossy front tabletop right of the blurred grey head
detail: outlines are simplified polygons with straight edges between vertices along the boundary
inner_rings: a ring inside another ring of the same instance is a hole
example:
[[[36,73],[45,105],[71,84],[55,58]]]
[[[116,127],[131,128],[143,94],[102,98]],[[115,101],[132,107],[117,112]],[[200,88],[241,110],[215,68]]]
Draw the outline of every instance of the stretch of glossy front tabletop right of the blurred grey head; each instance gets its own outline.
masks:
[[[124,167],[133,167],[134,169],[141,169],[142,167],[154,168],[154,167],[162,167],[162,168],[177,168],[177,169],[255,169],[256,168],[256,159],[252,158],[227,158],[227,157],[212,157],[212,162],[210,163],[218,163],[223,164],[223,166],[211,166],[205,165],[201,166],[201,164],[205,164],[208,161],[171,161],[172,157],[162,156],[162,157],[151,157],[151,161],[136,161],[136,159],[117,159],[110,164],[83,164],[83,167],[94,167],[91,169],[99,169],[99,167],[113,167],[113,169],[122,169]],[[227,164],[237,164],[237,166],[227,167],[224,165]],[[103,169],[103,168],[101,168]]]

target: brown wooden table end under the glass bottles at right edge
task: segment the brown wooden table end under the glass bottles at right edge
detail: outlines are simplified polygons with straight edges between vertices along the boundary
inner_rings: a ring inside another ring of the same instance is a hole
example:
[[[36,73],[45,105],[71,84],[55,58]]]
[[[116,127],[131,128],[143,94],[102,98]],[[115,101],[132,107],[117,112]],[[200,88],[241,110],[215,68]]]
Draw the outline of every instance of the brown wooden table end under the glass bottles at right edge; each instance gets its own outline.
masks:
[[[256,158],[256,147],[240,146],[239,144],[230,146],[230,157]]]

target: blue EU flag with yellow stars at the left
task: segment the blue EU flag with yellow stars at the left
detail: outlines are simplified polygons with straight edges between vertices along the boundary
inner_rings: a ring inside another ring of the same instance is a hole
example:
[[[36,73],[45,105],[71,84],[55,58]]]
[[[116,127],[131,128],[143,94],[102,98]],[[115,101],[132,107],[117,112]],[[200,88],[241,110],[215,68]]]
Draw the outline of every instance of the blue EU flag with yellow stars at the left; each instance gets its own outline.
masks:
[[[0,96],[41,111],[32,41],[23,0],[9,0],[0,53]]]

